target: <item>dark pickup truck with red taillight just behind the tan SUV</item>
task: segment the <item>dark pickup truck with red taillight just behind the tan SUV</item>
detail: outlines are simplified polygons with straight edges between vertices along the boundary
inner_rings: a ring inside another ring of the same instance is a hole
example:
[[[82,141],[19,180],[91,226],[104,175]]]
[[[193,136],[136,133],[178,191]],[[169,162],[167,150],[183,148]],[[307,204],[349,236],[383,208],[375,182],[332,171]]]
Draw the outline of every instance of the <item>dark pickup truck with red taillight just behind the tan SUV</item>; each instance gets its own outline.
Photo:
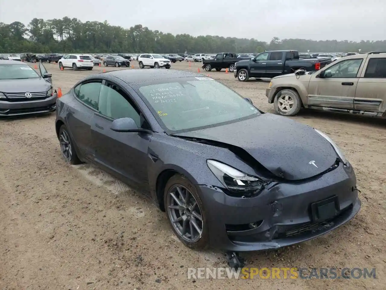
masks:
[[[331,63],[331,58],[299,59],[296,50],[264,51],[252,60],[241,60],[235,63],[234,76],[240,82],[249,78],[273,78],[278,75],[293,73],[299,68],[307,72],[320,70]]]

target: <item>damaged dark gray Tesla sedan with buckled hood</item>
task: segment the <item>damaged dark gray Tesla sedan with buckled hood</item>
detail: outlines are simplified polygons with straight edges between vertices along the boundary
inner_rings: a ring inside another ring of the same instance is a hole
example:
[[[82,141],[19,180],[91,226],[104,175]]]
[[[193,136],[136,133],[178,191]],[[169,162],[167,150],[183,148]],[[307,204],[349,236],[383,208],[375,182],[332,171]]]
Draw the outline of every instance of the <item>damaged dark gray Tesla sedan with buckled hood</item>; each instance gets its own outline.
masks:
[[[90,162],[150,196],[194,249],[306,241],[361,207],[354,170],[327,135],[197,73],[92,75],[58,99],[56,114],[67,162]]]

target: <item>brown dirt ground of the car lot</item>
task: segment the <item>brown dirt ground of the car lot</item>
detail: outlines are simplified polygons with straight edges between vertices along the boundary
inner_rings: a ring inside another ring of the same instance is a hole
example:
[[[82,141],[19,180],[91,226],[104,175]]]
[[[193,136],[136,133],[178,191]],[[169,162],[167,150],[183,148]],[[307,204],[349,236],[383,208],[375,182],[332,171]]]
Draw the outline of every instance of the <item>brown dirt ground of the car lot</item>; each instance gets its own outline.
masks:
[[[63,93],[105,69],[45,65]],[[201,65],[173,68],[197,71]],[[267,82],[243,83],[223,71],[209,75],[273,113]],[[344,150],[362,208],[346,225],[312,241],[242,253],[246,266],[375,267],[376,279],[187,279],[187,267],[226,266],[223,253],[186,248],[166,215],[140,193],[90,165],[65,164],[51,114],[0,120],[0,289],[384,289],[386,120],[315,111],[293,118],[328,133]]]

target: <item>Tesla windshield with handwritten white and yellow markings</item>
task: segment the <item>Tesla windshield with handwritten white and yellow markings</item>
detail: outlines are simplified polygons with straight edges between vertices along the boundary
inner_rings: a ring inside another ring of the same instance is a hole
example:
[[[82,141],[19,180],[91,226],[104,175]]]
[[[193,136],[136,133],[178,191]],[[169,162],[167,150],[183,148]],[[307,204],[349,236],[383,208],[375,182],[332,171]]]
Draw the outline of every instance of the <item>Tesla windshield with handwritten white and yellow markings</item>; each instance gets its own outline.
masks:
[[[260,112],[241,96],[208,77],[180,78],[169,83],[144,85],[139,93],[149,102],[169,131],[238,121]]]

